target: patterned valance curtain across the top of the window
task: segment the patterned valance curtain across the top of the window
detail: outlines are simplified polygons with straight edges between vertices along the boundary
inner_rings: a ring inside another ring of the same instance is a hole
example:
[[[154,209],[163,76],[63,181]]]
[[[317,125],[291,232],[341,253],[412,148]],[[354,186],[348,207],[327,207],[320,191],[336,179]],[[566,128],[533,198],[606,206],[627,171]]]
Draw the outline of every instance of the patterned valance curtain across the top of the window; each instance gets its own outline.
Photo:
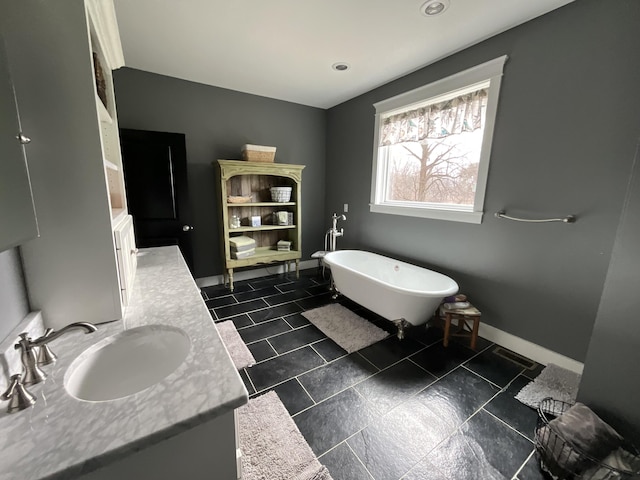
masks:
[[[487,89],[483,88],[383,118],[380,146],[472,132],[482,126],[482,113],[487,106],[487,97]]]

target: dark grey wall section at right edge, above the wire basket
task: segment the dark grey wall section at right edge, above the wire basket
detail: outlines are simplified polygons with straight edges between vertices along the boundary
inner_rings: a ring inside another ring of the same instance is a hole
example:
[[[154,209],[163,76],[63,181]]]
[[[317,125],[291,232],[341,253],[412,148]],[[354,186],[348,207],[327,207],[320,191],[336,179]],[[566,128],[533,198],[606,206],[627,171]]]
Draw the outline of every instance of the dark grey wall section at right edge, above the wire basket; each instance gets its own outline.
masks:
[[[640,445],[640,146],[578,400]]]

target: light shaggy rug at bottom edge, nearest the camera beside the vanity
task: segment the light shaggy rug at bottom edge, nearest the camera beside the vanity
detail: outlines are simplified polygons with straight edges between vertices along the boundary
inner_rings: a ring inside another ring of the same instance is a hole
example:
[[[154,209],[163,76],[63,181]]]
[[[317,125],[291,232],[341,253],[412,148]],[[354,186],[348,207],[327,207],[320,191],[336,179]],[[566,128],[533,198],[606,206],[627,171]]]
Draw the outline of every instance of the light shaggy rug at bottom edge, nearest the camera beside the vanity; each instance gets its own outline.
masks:
[[[246,480],[331,480],[278,395],[270,391],[238,409]]]

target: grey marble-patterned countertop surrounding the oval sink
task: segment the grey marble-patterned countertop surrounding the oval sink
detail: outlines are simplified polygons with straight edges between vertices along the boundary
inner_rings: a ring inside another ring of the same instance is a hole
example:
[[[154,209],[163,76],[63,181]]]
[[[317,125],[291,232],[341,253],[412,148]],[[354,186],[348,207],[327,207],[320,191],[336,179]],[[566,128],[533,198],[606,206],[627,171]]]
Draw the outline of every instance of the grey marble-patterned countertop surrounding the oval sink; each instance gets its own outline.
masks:
[[[124,321],[51,342],[58,361],[43,368],[49,375],[44,383],[29,387],[38,397],[33,408],[7,414],[6,403],[0,404],[0,479],[75,478],[248,401],[178,247],[141,249],[133,288]],[[125,328],[150,324],[179,327],[189,336],[191,350],[176,371],[107,402],[81,401],[66,392],[65,371],[80,353]]]

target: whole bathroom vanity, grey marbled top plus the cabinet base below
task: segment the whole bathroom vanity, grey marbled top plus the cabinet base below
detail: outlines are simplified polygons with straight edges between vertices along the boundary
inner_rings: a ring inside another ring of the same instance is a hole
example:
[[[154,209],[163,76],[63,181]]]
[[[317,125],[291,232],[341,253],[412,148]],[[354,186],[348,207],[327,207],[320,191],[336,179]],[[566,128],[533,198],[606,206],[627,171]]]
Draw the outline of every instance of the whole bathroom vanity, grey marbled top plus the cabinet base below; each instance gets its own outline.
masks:
[[[67,392],[69,366],[82,352],[144,325],[188,337],[189,352],[173,373],[115,400],[89,402]],[[247,390],[178,247],[138,253],[123,321],[49,345],[58,361],[43,367],[44,383],[28,387],[36,404],[8,414],[0,403],[0,480],[238,478],[235,409],[248,401]]]

